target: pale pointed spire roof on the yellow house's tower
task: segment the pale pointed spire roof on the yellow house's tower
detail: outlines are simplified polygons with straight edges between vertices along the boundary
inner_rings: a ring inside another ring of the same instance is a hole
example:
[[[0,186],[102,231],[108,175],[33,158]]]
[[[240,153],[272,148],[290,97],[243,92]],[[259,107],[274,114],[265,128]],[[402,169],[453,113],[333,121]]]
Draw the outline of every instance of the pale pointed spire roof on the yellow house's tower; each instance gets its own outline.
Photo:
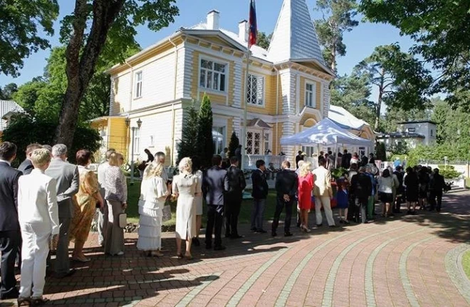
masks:
[[[305,0],[284,0],[268,49],[274,63],[316,60],[325,66],[317,33]]]

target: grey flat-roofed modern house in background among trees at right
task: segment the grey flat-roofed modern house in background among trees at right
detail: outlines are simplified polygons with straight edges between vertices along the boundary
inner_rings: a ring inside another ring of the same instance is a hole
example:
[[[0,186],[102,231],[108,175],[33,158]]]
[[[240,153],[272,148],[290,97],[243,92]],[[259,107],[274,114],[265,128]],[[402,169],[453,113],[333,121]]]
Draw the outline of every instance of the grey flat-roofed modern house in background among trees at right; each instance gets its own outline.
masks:
[[[437,124],[430,120],[414,120],[398,123],[397,132],[380,133],[377,141],[383,142],[387,150],[406,145],[412,149],[417,145],[436,143]]]

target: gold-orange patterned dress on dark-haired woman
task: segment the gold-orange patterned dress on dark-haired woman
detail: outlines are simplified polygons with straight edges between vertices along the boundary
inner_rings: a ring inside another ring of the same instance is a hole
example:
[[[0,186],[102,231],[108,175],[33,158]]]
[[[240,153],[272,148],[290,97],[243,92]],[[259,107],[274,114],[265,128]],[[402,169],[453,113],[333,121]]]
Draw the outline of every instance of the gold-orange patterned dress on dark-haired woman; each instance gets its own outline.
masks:
[[[85,242],[95,215],[97,200],[94,194],[100,191],[98,178],[86,167],[78,165],[80,189],[73,197],[74,214],[71,222],[71,241]]]

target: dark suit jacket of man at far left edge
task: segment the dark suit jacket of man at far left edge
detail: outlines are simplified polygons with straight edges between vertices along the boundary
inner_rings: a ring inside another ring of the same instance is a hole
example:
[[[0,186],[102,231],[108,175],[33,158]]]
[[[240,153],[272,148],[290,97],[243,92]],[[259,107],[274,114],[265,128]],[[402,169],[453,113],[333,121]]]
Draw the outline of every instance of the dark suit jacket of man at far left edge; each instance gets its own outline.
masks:
[[[0,231],[19,230],[18,179],[21,172],[0,162]]]

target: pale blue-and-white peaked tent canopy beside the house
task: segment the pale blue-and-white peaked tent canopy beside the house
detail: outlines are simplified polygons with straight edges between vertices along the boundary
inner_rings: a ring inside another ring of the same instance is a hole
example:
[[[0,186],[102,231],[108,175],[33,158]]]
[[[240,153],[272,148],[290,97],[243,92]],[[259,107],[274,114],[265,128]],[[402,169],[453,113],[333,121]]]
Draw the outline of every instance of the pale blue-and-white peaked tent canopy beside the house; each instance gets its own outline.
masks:
[[[330,120],[329,118],[323,118],[316,125],[305,129],[295,135],[288,137],[281,137],[281,145],[284,146],[312,146],[322,145],[329,146],[334,145],[351,145],[357,147],[370,147],[372,142],[357,135],[353,135],[348,130],[340,128],[339,125]],[[335,150],[336,152],[336,150]]]

